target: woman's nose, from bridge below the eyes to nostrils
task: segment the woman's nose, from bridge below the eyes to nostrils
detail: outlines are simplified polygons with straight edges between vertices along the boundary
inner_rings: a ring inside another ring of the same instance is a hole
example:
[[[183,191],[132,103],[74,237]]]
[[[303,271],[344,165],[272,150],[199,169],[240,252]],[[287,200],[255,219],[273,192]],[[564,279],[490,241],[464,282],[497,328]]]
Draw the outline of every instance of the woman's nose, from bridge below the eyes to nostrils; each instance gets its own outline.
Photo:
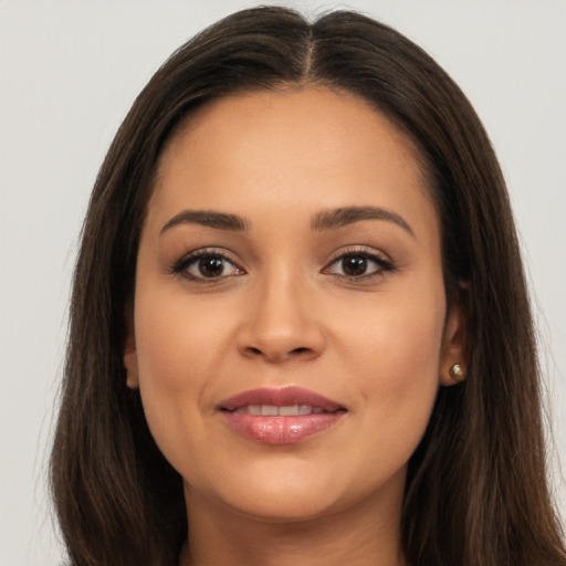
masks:
[[[314,359],[324,350],[325,336],[317,321],[308,285],[274,277],[255,289],[240,327],[238,348],[249,358],[271,364]]]

